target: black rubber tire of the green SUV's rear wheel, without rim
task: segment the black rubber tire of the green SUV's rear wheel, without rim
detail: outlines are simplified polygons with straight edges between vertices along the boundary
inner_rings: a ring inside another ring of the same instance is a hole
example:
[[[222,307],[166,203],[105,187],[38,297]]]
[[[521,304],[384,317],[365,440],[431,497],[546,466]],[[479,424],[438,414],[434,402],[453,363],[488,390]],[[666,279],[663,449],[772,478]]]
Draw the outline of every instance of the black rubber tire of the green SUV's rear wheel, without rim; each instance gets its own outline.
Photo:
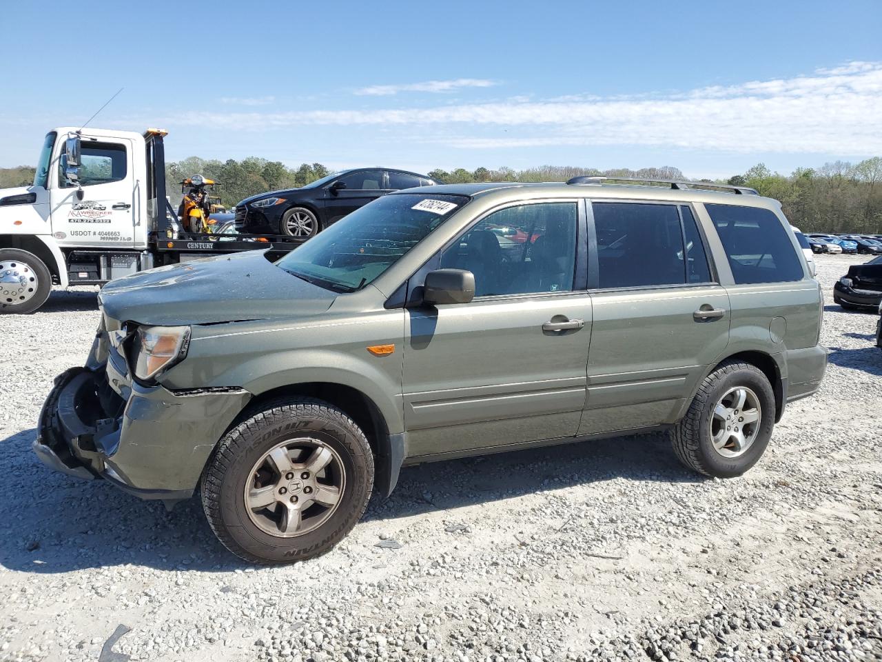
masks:
[[[711,418],[721,397],[733,387],[748,387],[759,398],[760,416],[756,437],[743,455],[724,457],[711,439]],[[766,375],[756,365],[724,362],[701,383],[684,418],[670,433],[674,452],[691,470],[714,478],[741,476],[759,461],[772,436],[775,418],[774,393]]]

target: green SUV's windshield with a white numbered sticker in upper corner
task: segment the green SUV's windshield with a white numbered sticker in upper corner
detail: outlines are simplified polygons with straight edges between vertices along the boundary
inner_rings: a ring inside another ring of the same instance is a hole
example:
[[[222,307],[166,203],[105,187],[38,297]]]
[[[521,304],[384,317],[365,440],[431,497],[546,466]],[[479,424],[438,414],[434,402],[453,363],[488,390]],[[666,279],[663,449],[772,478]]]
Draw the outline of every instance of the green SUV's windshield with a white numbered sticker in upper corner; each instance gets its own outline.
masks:
[[[468,200],[462,195],[385,195],[298,246],[276,265],[328,290],[361,290]]]

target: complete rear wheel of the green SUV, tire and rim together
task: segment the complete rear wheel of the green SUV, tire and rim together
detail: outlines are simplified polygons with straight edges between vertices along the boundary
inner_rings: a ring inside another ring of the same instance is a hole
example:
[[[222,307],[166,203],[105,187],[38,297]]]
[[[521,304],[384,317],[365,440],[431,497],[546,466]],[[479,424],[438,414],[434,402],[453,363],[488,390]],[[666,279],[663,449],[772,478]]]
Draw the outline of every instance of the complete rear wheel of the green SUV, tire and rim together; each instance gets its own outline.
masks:
[[[723,363],[702,382],[671,431],[671,442],[691,470],[734,478],[766,451],[774,418],[774,393],[766,375],[755,365]]]

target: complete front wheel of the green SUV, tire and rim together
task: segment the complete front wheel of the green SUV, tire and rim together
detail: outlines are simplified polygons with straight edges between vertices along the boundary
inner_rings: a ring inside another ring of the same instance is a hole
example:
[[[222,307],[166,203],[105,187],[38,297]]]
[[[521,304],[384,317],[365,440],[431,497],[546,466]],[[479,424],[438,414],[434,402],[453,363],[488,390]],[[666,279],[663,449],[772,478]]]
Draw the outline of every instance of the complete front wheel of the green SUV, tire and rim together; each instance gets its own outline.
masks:
[[[362,430],[327,402],[271,402],[218,444],[202,477],[215,535],[254,563],[325,553],[367,507],[374,462]]]

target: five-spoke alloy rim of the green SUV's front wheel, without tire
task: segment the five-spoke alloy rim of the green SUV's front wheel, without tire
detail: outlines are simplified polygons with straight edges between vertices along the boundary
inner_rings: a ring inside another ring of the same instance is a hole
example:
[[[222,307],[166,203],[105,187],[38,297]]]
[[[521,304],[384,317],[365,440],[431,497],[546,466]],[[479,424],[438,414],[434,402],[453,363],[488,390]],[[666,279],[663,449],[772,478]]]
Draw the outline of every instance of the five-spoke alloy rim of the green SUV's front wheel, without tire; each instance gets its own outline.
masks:
[[[346,471],[333,448],[312,438],[286,440],[254,464],[245,508],[260,530],[294,538],[327,522],[345,487]]]

